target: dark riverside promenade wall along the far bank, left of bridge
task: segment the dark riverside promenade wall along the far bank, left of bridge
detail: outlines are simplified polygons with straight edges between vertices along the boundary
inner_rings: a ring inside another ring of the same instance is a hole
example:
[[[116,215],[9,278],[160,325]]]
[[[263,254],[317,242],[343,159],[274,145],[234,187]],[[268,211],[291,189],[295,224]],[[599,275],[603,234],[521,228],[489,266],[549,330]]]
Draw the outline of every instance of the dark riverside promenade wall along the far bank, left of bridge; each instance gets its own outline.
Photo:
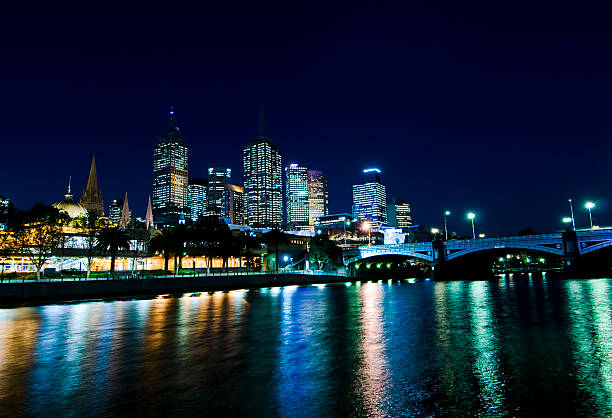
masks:
[[[327,272],[220,273],[130,277],[121,279],[42,279],[4,281],[0,284],[0,305],[37,303],[52,300],[79,300],[97,297],[156,295],[163,293],[207,292],[268,286],[333,283],[352,280],[344,274]]]

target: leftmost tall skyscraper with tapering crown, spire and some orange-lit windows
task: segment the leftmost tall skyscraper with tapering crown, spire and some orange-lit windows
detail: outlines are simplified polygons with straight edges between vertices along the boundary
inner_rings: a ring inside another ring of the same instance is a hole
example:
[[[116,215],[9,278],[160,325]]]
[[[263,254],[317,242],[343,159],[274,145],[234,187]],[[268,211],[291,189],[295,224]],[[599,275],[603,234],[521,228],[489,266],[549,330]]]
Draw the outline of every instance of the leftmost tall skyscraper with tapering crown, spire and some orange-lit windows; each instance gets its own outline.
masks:
[[[177,225],[188,214],[188,178],[188,147],[170,107],[166,133],[153,147],[153,215],[158,225]]]

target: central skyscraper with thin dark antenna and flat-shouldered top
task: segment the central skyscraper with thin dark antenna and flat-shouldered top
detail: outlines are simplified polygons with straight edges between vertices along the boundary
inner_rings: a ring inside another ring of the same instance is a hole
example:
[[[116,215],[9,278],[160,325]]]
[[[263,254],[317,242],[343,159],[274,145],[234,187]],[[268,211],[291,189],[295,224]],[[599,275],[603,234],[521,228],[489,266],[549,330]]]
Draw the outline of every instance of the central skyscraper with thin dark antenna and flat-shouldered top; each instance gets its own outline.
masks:
[[[242,146],[245,220],[254,228],[280,228],[283,222],[283,174],[278,145],[264,134]]]

